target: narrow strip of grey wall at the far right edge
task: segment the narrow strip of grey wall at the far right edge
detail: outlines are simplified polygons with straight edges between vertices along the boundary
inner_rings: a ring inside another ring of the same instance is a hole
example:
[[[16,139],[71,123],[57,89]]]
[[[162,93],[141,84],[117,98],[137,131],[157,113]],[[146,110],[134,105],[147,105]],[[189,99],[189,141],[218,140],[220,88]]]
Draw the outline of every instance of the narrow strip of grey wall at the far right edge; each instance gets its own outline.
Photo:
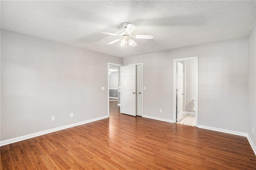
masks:
[[[248,37],[248,134],[256,146],[256,26]]]

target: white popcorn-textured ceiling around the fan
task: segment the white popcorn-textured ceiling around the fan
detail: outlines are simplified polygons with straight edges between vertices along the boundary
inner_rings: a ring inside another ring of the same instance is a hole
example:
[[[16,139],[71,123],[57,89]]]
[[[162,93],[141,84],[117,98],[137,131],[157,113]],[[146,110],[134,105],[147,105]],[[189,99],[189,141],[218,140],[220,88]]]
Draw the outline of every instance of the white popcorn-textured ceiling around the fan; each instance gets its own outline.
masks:
[[[107,45],[125,29],[152,34],[136,47]],[[256,1],[2,1],[1,28],[118,57],[244,38],[256,23]]]

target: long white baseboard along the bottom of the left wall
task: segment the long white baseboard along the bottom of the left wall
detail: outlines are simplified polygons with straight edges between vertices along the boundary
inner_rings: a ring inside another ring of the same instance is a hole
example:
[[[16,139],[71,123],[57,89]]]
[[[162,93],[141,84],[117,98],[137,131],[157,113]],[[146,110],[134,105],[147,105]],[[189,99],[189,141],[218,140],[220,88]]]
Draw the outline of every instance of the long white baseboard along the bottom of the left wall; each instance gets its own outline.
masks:
[[[98,117],[98,118],[90,119],[90,120],[87,120],[87,121],[82,121],[82,122],[78,122],[78,123],[74,123],[74,124],[70,124],[70,125],[65,125],[65,126],[58,127],[58,128],[52,128],[52,129],[44,130],[44,131],[41,131],[41,132],[36,132],[36,133],[27,134],[27,135],[20,136],[20,137],[8,139],[8,140],[3,140],[3,141],[0,141],[0,146],[4,146],[6,144],[11,144],[11,143],[14,143],[14,142],[19,142],[19,141],[26,140],[26,139],[29,139],[29,138],[34,138],[34,137],[37,137],[37,136],[41,136],[41,135],[44,135],[44,134],[56,132],[56,131],[63,130],[63,129],[66,129],[66,128],[76,127],[76,126],[83,125],[83,124],[86,124],[86,123],[99,121],[101,119],[106,119],[106,118],[108,118],[108,116]]]

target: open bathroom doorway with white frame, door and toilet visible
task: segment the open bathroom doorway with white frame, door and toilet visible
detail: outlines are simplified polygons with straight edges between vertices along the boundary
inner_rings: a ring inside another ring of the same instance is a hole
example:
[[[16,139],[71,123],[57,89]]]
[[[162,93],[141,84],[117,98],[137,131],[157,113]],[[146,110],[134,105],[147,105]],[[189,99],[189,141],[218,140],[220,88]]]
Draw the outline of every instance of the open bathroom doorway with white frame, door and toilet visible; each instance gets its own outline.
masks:
[[[198,126],[198,57],[174,59],[174,120]]]

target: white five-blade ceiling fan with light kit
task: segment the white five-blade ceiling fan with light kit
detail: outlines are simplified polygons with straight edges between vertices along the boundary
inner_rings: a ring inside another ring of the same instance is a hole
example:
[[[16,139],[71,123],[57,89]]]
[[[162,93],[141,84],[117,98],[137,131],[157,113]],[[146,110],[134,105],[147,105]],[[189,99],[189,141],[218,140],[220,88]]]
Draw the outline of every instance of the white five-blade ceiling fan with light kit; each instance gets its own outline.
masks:
[[[124,26],[124,28],[126,28],[126,30],[124,32],[121,32],[120,34],[114,34],[114,33],[103,32],[103,31],[100,31],[100,33],[120,37],[112,42],[109,42],[108,44],[113,44],[115,42],[120,41],[119,45],[122,47],[126,47],[126,44],[128,44],[129,47],[130,46],[135,47],[137,45],[137,43],[134,42],[134,40],[132,40],[132,38],[140,38],[140,39],[152,39],[153,38],[152,35],[132,35],[132,32],[136,28],[136,26],[134,26],[133,24],[129,24],[129,23],[125,22],[125,23],[123,23],[123,26]]]

